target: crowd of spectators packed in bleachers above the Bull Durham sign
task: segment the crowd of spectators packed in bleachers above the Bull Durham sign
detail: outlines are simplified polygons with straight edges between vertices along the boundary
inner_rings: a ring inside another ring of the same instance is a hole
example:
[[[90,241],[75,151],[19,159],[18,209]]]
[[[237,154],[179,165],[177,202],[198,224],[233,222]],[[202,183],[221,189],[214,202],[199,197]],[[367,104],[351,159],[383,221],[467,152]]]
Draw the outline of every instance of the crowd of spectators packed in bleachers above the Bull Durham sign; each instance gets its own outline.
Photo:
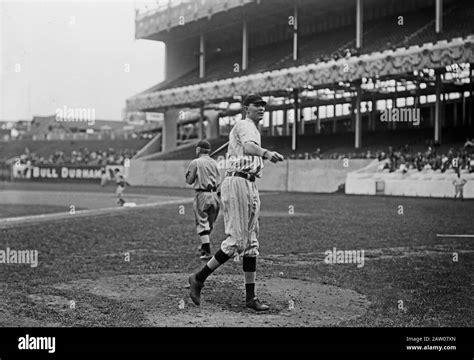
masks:
[[[87,147],[79,148],[66,154],[55,151],[49,156],[39,156],[25,149],[19,158],[21,163],[31,165],[123,165],[125,159],[131,159],[137,150],[108,148],[103,151],[89,150]]]

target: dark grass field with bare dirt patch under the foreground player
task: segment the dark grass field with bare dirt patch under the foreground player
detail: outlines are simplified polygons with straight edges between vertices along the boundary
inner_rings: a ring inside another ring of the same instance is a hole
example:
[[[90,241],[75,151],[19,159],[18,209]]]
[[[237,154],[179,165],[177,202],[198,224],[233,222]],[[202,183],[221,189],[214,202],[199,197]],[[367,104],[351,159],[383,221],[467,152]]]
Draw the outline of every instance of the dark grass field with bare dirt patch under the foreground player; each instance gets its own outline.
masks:
[[[473,239],[436,236],[474,234],[473,201],[297,193],[262,194],[261,200],[257,293],[271,311],[258,315],[259,324],[473,325]],[[0,326],[235,326],[235,319],[246,326],[256,319],[244,307],[241,262],[231,260],[209,278],[201,308],[189,301],[187,276],[203,265],[190,203],[0,234],[0,250],[39,253],[35,268],[0,264]],[[213,252],[223,236],[220,216]],[[326,264],[324,252],[334,247],[364,250],[364,266]],[[338,303],[345,296],[348,302]],[[296,304],[292,311],[288,298]],[[344,312],[351,306],[354,316]],[[215,313],[234,320],[226,323]]]

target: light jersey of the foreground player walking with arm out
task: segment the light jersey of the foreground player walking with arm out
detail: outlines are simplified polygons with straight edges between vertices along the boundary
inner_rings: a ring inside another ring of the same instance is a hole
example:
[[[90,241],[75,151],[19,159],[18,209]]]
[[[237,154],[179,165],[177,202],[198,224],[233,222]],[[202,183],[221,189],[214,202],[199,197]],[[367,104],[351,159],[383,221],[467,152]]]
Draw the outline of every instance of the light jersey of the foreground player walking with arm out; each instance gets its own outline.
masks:
[[[244,155],[244,144],[253,142],[260,146],[261,138],[255,123],[246,118],[237,121],[229,134],[229,148],[226,159],[226,173],[240,171],[261,177],[263,159],[260,156]]]

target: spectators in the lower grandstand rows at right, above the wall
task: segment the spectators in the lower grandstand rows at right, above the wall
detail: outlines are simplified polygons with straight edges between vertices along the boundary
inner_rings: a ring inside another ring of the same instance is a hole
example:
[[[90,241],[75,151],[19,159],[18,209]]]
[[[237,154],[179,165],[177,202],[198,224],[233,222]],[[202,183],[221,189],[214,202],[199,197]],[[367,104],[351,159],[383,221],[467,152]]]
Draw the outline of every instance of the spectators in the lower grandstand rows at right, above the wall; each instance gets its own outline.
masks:
[[[290,159],[378,159],[381,161],[379,170],[389,172],[407,172],[410,169],[418,171],[434,170],[446,172],[448,169],[454,171],[466,170],[474,172],[474,138],[466,139],[464,146],[459,149],[450,148],[446,153],[442,153],[437,146],[429,141],[424,152],[414,152],[406,144],[398,149],[389,146],[387,151],[362,151],[352,153],[325,152],[317,149],[313,153],[292,154]]]

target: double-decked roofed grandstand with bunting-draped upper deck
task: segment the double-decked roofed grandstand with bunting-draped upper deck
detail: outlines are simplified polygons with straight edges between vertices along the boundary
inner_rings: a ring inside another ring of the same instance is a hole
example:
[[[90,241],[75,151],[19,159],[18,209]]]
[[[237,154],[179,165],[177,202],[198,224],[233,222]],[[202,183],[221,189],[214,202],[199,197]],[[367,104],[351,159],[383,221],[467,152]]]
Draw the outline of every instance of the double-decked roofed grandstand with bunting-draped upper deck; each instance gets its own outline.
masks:
[[[268,99],[265,146],[289,157],[383,151],[412,136],[418,148],[459,147],[474,136],[473,14],[464,0],[170,1],[136,15],[136,38],[163,41],[167,69],[127,109],[164,113],[161,151],[147,160],[193,156],[179,146],[183,109],[208,128],[194,138],[218,147],[251,92]],[[418,109],[420,124],[379,121],[394,108]]]

